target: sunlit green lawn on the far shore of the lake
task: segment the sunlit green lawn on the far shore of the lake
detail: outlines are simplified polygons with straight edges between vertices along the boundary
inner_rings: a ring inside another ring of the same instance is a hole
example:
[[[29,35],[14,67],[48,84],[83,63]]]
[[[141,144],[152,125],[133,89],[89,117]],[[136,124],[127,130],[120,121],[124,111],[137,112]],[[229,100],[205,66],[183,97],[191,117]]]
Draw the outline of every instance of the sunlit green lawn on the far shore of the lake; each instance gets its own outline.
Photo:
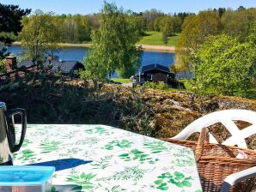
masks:
[[[138,44],[142,45],[164,45],[162,42],[162,33],[161,32],[146,32],[146,36],[143,36]],[[168,37],[168,46],[176,46],[178,39],[180,38],[180,33],[177,33],[177,36]]]

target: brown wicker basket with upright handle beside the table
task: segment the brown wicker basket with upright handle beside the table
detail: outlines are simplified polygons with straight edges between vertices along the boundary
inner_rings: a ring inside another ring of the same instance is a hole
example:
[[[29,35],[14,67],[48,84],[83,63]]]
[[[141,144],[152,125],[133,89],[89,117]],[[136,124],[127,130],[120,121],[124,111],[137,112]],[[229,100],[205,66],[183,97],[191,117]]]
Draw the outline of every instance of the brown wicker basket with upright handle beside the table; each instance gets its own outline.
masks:
[[[204,192],[218,192],[222,183],[229,175],[256,166],[256,152],[251,149],[230,147],[209,143],[209,130],[204,128],[198,141],[183,141],[174,139],[162,139],[181,146],[192,148],[197,161],[198,172]],[[235,158],[237,154],[244,152],[247,159]],[[235,184],[232,192],[252,191],[256,183],[256,177]]]

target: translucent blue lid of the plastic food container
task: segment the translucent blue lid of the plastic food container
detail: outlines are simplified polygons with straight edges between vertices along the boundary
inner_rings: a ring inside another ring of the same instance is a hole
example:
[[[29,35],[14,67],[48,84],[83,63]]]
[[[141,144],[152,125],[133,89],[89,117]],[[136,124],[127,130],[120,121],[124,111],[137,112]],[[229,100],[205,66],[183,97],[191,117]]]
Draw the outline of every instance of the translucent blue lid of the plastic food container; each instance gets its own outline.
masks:
[[[42,185],[54,171],[53,166],[0,166],[0,186]]]

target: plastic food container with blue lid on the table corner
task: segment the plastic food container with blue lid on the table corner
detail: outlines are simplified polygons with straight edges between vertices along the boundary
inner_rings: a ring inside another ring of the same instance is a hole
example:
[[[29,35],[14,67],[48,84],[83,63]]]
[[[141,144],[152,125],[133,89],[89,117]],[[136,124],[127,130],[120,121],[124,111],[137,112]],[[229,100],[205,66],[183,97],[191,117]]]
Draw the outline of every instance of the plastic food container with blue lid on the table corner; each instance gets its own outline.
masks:
[[[1,192],[52,191],[52,166],[0,166]]]

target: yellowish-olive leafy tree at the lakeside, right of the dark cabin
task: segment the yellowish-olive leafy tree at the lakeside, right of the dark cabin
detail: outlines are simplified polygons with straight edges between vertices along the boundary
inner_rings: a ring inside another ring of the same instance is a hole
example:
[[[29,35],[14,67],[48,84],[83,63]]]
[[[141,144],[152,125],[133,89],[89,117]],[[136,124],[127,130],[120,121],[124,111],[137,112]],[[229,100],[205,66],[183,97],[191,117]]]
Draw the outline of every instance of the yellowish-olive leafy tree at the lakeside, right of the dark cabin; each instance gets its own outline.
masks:
[[[201,11],[198,15],[187,16],[175,49],[174,67],[183,72],[187,70],[194,72],[194,52],[198,50],[199,45],[202,45],[207,37],[216,35],[220,31],[220,17],[216,11]]]

